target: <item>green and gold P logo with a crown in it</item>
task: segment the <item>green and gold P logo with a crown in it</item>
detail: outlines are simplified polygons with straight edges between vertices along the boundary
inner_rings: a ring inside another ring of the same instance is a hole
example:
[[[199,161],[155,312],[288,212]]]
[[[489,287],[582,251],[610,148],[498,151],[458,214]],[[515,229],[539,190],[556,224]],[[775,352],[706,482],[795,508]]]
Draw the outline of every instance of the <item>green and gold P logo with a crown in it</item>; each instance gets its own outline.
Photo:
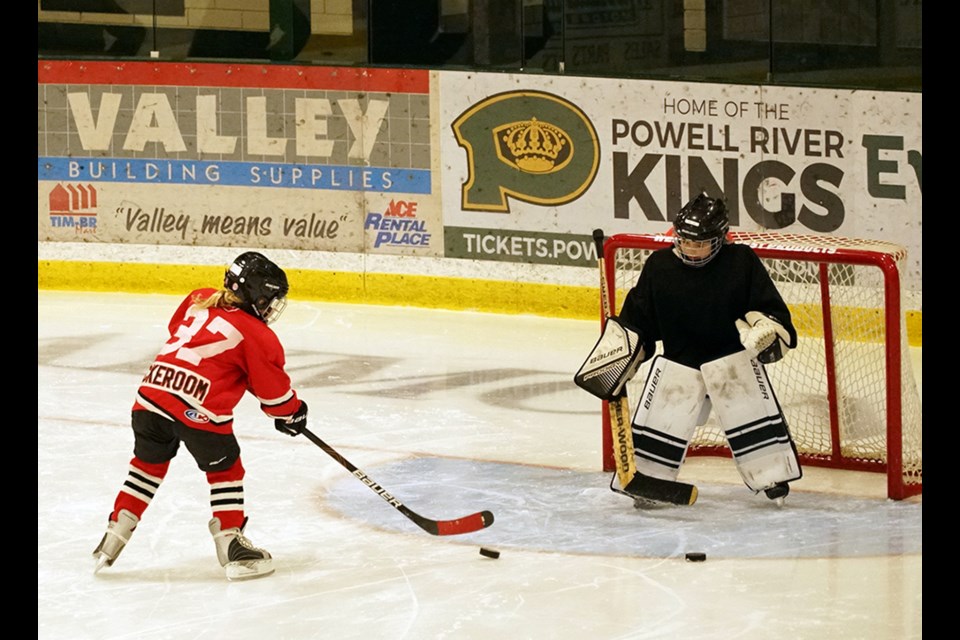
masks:
[[[467,152],[465,211],[510,211],[508,198],[544,206],[576,200],[590,187],[600,143],[571,102],[540,91],[488,97],[454,120]]]

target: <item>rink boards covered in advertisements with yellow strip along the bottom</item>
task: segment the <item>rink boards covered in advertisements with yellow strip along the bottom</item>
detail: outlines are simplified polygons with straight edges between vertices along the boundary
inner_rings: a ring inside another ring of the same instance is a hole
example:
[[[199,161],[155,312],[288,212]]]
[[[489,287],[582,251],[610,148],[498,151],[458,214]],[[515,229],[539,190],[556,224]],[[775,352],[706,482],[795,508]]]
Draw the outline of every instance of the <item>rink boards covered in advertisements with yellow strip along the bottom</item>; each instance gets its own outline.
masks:
[[[907,248],[922,95],[411,69],[38,61],[38,287],[179,293],[239,251],[291,298],[598,317],[592,231],[701,189],[733,228]]]

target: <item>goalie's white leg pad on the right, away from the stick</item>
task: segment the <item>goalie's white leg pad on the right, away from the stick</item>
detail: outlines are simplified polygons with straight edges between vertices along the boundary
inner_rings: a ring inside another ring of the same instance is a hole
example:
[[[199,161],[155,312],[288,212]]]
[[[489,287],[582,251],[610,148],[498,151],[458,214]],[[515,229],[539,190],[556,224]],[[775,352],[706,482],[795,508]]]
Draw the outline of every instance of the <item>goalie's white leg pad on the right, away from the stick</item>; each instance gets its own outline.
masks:
[[[796,447],[763,365],[740,351],[700,371],[744,483],[759,492],[798,480]]]

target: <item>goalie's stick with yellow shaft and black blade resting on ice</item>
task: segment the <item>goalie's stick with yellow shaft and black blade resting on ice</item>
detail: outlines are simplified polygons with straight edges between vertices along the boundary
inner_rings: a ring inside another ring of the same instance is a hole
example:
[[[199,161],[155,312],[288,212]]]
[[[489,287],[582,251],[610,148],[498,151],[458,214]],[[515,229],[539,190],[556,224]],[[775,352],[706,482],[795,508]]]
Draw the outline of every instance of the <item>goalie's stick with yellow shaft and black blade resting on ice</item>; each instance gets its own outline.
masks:
[[[604,322],[606,322],[613,315],[613,309],[610,302],[610,284],[607,281],[606,259],[603,256],[604,238],[602,229],[594,229],[593,242],[597,248],[597,265],[600,268],[600,304]],[[627,399],[626,387],[619,396],[607,401],[607,413],[610,417],[610,429],[613,432],[613,455],[617,463],[617,478],[620,480],[621,487],[617,489],[611,482],[611,489],[642,501],[679,505],[693,504],[697,501],[697,488],[692,484],[654,478],[637,471],[637,463],[633,457],[630,402]]]

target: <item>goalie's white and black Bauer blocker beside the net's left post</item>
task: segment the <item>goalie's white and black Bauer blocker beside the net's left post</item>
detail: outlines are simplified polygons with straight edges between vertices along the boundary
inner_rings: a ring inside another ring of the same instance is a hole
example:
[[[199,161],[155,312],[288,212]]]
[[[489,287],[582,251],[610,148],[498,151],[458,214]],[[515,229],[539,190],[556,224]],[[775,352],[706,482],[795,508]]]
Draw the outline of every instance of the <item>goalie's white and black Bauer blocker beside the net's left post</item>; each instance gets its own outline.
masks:
[[[616,316],[610,316],[573,381],[601,400],[613,400],[621,395],[645,359],[640,334]]]

